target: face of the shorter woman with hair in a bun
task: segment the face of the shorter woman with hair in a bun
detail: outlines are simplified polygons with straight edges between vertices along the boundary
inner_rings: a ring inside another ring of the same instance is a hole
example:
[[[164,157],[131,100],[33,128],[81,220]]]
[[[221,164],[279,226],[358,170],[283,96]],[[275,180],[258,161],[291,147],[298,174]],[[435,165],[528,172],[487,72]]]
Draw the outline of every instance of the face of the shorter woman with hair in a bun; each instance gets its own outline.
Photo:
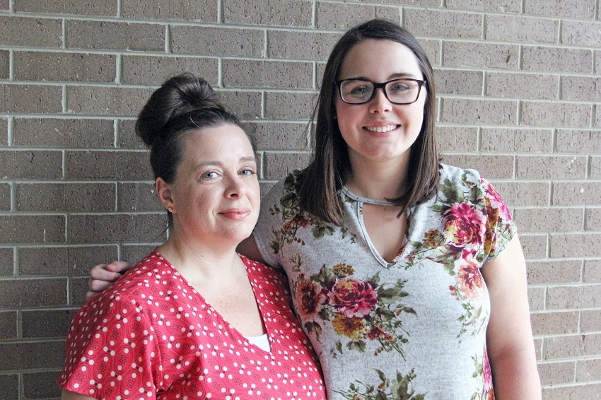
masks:
[[[175,182],[157,179],[165,208],[173,208],[178,240],[202,245],[237,245],[259,216],[257,163],[240,127],[223,124],[187,134]],[[200,242],[198,242],[200,241]]]

